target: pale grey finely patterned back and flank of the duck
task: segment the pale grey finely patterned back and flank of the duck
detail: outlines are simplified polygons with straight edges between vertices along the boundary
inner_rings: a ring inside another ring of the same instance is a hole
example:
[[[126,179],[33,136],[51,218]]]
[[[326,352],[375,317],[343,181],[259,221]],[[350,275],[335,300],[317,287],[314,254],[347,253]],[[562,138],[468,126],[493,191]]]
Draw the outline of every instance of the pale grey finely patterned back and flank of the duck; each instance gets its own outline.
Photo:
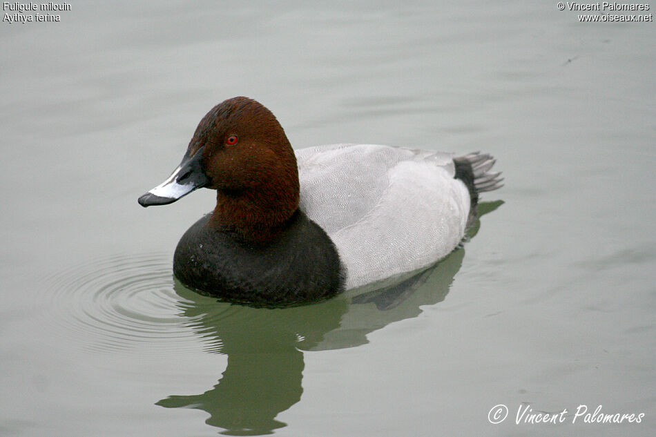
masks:
[[[336,144],[296,158],[300,207],[336,245],[347,289],[428,266],[464,236],[470,195],[450,153]]]

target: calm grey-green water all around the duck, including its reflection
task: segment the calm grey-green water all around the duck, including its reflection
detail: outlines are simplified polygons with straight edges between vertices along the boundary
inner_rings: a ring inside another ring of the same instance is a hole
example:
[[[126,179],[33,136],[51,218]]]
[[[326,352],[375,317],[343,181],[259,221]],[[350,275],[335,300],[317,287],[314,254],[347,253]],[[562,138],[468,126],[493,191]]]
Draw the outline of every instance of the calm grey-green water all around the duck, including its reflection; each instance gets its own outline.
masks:
[[[0,23],[0,435],[653,435],[653,22],[511,1],[60,14]],[[235,95],[296,148],[492,153],[503,204],[411,295],[203,298],[171,258],[212,193],[136,199]],[[579,405],[644,416],[572,423]],[[568,412],[515,423],[527,406]]]

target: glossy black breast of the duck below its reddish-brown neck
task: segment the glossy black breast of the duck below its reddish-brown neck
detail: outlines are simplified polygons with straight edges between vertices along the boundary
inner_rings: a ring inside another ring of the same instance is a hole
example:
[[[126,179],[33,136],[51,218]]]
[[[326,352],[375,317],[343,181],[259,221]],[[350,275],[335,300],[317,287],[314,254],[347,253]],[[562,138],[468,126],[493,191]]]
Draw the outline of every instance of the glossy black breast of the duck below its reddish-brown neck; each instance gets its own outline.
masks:
[[[316,302],[342,290],[335,245],[301,211],[264,244],[211,229],[208,220],[206,215],[193,224],[175,249],[173,273],[187,287],[260,307]]]

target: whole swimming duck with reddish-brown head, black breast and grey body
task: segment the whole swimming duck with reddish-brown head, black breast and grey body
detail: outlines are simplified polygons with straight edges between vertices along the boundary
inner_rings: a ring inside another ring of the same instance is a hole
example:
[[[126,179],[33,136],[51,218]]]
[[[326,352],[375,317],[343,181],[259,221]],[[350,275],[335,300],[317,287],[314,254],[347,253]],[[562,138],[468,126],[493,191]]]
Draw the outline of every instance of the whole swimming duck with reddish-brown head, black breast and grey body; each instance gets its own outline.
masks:
[[[175,278],[220,300],[284,307],[445,258],[463,242],[479,194],[503,186],[494,163],[479,152],[378,144],[294,150],[269,109],[233,97],[209,110],[175,171],[138,202],[215,190],[213,211],[175,248]]]

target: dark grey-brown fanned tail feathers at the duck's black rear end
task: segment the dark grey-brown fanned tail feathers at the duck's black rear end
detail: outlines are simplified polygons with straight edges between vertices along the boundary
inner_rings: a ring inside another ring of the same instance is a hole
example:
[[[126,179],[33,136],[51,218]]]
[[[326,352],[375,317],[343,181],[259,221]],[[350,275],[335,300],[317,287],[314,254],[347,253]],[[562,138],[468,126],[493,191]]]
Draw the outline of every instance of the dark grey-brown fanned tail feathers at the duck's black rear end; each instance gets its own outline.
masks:
[[[455,157],[453,162],[456,166],[456,175],[454,177],[461,179],[467,186],[472,198],[472,207],[479,202],[479,193],[496,190],[503,186],[501,172],[490,172],[496,162],[492,155],[474,152]]]

